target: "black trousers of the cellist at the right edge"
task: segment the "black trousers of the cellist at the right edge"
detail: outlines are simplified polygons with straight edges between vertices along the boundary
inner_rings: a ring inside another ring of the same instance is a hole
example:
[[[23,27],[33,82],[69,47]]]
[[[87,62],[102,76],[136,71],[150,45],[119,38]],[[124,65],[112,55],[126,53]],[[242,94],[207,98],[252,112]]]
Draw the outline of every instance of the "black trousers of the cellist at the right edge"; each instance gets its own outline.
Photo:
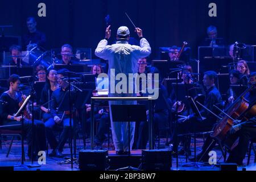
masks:
[[[237,131],[237,134],[240,137],[238,145],[230,152],[227,162],[241,165],[243,159],[245,159],[250,140],[256,138],[256,128],[243,127],[240,131]]]

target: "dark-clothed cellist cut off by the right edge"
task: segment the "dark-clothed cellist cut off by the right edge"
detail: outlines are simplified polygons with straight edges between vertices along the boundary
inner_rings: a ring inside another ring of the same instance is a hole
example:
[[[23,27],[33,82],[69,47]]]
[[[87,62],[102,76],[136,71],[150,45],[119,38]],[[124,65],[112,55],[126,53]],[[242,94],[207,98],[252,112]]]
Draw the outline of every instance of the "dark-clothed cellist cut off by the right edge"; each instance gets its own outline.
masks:
[[[256,72],[251,73],[249,76],[249,86],[253,85],[253,88],[246,93],[245,99],[249,101],[249,109],[255,108],[256,104]],[[243,164],[243,159],[245,159],[247,148],[249,146],[249,142],[251,139],[256,138],[256,117],[255,117],[255,109],[254,113],[252,113],[247,121],[242,119],[240,124],[234,125],[232,129],[229,131],[230,134],[237,135],[239,137],[238,145],[230,152],[229,158],[227,160],[228,163],[237,163],[238,166]]]

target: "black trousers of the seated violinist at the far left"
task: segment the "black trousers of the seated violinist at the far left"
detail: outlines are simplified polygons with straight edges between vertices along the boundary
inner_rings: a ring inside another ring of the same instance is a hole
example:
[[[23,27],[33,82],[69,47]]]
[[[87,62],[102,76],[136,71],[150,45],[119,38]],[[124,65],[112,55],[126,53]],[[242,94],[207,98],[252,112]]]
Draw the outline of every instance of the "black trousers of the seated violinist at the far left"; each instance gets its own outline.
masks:
[[[3,125],[10,125],[6,128],[7,130],[21,130],[22,126],[11,126],[19,125],[21,122],[14,120],[6,120],[3,122]],[[34,130],[32,132],[32,121],[24,119],[24,136],[27,136],[28,144],[28,156],[31,157],[31,145],[33,141],[33,155],[38,155],[39,151],[46,150],[46,133],[44,123],[39,120],[34,120]]]

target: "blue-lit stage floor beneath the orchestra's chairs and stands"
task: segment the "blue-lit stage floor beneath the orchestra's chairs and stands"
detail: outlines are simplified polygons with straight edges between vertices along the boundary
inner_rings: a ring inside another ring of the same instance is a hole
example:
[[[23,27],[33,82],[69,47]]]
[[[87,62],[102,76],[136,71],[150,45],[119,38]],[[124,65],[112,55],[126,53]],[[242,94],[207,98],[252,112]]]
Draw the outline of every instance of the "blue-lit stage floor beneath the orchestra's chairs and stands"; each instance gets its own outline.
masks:
[[[90,139],[86,140],[86,150],[90,150]],[[165,145],[166,140],[161,139],[159,143],[159,148],[168,148],[168,146]],[[20,141],[16,140],[11,147],[11,152],[9,155],[9,158],[6,158],[6,153],[9,147],[10,140],[9,138],[2,140],[2,150],[0,150],[0,167],[1,166],[14,166],[15,171],[78,171],[79,170],[79,162],[78,160],[75,160],[75,163],[73,164],[73,169],[71,168],[71,164],[68,162],[68,159],[70,159],[70,149],[68,148],[68,144],[65,145],[63,154],[66,154],[64,158],[46,158],[46,165],[41,165],[40,167],[35,168],[26,168],[26,167],[19,167],[21,164],[21,147],[20,147]],[[193,140],[192,140],[191,150],[193,154]],[[201,150],[201,146],[203,145],[203,139],[197,138],[196,140],[196,152],[197,154]],[[158,143],[156,143],[156,146],[158,146]],[[25,152],[27,153],[27,145],[25,144]],[[82,140],[77,140],[77,155],[74,156],[75,159],[78,158],[78,154],[80,150],[83,150],[84,146],[82,144]],[[108,150],[108,143],[104,143],[102,148],[97,148],[102,150]],[[217,162],[222,163],[223,157],[221,155],[221,151],[218,147],[214,148],[214,151],[217,152]],[[51,151],[49,151],[51,152]],[[141,163],[141,150],[133,150],[131,151],[131,158],[130,162],[133,163],[132,165],[137,165],[133,167],[139,168],[139,164]],[[190,158],[192,156],[189,156]],[[115,154],[115,151],[113,151],[113,145],[110,144],[109,148],[109,158],[110,158],[110,170],[117,169],[119,167],[126,167],[127,156],[117,156]],[[251,151],[251,159],[250,159],[250,165],[249,166],[241,166],[238,167],[238,171],[242,171],[243,168],[246,168],[247,171],[256,171],[256,163],[254,163],[254,153]],[[188,161],[189,162],[189,161]],[[172,170],[185,170],[185,171],[219,171],[220,169],[217,166],[210,166],[209,164],[207,166],[201,166],[201,167],[182,167],[183,164],[186,163],[185,156],[179,155],[178,158],[178,168],[176,168],[176,158],[172,157]],[[244,164],[247,163],[247,156],[245,160],[243,161]],[[30,161],[28,161],[28,157],[26,155],[26,161],[25,164],[31,164]],[[38,164],[37,162],[34,162],[34,164]],[[0,169],[1,170],[1,169]]]

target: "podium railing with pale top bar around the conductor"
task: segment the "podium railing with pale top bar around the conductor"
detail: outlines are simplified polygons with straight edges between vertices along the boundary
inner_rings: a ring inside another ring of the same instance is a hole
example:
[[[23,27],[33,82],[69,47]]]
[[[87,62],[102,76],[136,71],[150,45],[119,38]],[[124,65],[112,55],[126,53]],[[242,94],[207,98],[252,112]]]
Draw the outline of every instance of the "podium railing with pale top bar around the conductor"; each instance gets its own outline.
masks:
[[[91,97],[91,125],[90,125],[90,136],[91,136],[91,150],[94,150],[94,106],[96,101],[148,101],[148,142],[150,150],[153,149],[152,140],[152,121],[153,121],[153,110],[152,110],[152,97]],[[129,143],[130,144],[130,143]]]

